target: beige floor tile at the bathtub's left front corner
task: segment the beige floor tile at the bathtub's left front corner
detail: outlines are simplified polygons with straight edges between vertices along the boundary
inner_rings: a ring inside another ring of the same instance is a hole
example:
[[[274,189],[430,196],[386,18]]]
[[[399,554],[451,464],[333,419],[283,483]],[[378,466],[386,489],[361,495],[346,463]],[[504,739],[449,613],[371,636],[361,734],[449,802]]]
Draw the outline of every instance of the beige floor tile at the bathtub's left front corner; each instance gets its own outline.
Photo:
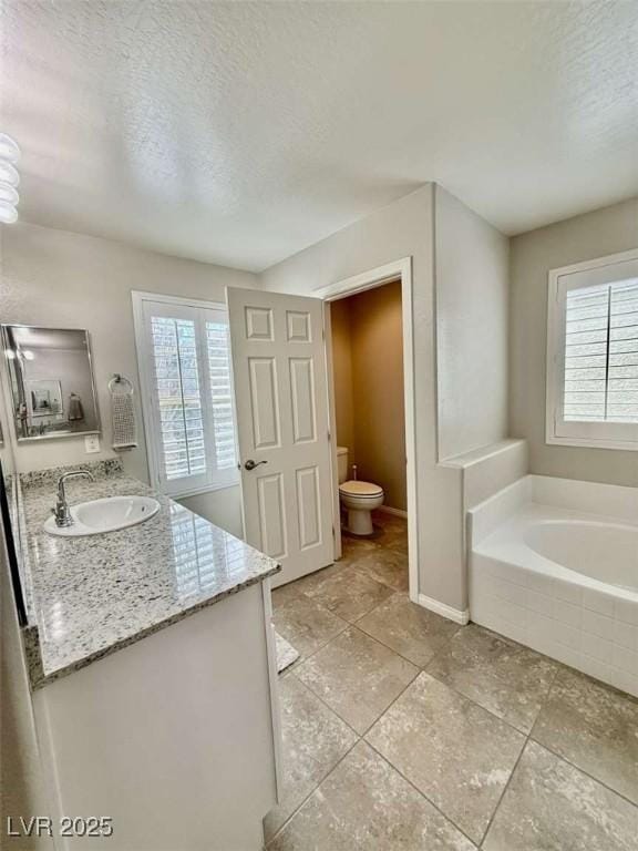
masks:
[[[558,665],[527,647],[471,624],[428,665],[442,679],[498,718],[529,732]]]

